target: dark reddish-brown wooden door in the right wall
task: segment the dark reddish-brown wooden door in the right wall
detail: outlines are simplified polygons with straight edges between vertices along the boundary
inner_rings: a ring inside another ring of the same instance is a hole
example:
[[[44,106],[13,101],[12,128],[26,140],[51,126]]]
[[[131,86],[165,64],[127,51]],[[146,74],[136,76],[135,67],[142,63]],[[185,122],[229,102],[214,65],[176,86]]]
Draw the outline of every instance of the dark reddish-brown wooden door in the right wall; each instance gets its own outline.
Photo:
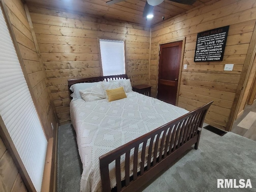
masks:
[[[160,45],[157,98],[175,105],[182,41]]]

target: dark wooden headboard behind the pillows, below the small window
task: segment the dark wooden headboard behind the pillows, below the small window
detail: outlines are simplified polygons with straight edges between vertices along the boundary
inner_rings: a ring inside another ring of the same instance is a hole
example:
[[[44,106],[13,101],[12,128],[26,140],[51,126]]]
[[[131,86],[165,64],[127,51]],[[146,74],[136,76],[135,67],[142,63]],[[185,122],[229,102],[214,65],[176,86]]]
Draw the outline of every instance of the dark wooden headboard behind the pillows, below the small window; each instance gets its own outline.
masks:
[[[127,74],[122,75],[110,75],[110,76],[101,76],[101,77],[90,77],[82,79],[69,79],[68,80],[68,90],[71,92],[70,87],[76,83],[89,83],[89,82],[100,82],[103,80],[116,80],[116,79],[128,79]]]

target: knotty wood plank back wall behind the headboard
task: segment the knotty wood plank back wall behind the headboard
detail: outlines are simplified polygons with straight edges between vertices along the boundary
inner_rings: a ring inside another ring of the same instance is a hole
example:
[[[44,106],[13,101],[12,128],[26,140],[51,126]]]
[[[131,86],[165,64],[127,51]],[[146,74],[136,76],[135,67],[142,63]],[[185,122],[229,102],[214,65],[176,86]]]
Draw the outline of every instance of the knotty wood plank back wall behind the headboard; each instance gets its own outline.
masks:
[[[60,124],[70,122],[68,79],[101,75],[98,38],[126,40],[126,73],[148,84],[149,28],[28,6]]]

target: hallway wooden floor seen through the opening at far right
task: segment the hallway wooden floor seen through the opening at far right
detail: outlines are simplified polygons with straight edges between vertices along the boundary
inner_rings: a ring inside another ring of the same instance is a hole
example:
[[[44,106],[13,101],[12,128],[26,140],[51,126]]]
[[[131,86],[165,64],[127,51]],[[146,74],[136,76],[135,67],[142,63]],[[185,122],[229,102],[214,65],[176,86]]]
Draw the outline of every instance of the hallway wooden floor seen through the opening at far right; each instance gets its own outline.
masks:
[[[256,141],[256,101],[246,105],[244,113],[234,121],[231,132]]]

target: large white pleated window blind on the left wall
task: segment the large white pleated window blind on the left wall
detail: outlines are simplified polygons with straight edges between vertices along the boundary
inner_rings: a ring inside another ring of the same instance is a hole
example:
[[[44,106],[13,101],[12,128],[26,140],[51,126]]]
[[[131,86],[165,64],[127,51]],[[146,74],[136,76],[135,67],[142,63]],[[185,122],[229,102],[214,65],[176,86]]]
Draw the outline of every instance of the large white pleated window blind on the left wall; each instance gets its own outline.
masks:
[[[0,28],[0,115],[39,192],[47,140],[1,9]]]

